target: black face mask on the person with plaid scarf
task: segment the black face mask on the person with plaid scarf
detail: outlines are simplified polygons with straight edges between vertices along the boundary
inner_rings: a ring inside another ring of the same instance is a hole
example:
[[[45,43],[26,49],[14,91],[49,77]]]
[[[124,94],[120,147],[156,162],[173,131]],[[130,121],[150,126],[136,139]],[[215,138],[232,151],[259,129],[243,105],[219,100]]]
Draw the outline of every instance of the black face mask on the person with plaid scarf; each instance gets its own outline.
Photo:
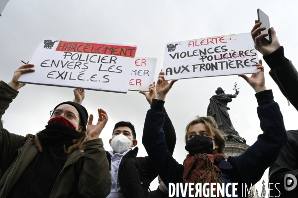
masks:
[[[214,151],[212,138],[195,135],[195,137],[186,142],[185,149],[189,151],[191,155],[197,153],[211,154]]]

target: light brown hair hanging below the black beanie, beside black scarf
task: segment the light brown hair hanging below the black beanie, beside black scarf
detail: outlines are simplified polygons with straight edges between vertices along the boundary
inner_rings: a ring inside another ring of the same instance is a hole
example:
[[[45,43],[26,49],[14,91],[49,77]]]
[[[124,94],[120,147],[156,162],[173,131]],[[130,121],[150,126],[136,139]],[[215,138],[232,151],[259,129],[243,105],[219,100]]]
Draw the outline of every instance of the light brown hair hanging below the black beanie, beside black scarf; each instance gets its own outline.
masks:
[[[42,152],[42,145],[41,145],[41,142],[38,138],[38,135],[40,134],[41,132],[38,132],[36,133],[35,135],[33,134],[27,134],[26,135],[26,138],[33,138],[33,141],[34,141],[34,144],[35,144],[35,147],[38,149],[39,152]],[[70,152],[73,152],[75,150],[81,150],[83,149],[83,143],[88,139],[88,135],[87,135],[87,132],[81,132],[81,136],[79,139],[74,139],[73,140],[73,145],[68,147],[67,149],[64,148],[64,151],[66,153],[70,153]]]

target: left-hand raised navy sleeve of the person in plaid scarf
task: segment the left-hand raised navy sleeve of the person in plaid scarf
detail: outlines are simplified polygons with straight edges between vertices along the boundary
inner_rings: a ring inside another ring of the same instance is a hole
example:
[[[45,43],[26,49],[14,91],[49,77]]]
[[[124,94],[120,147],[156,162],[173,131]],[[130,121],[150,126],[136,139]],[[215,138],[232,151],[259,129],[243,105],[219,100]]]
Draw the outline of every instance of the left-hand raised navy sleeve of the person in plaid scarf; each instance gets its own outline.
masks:
[[[168,187],[182,165],[173,158],[166,145],[162,128],[165,122],[163,106],[164,101],[153,99],[146,115],[142,143],[158,175]]]

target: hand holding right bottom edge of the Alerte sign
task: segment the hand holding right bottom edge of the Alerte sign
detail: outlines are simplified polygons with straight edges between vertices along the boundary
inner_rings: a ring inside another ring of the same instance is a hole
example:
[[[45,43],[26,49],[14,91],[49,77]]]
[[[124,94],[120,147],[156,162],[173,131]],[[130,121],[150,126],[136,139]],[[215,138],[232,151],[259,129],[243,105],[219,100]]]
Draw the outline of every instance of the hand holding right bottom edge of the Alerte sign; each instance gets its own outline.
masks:
[[[266,90],[265,87],[265,76],[264,76],[264,67],[262,66],[262,60],[259,61],[260,64],[257,64],[257,68],[261,69],[259,73],[251,74],[251,77],[248,77],[245,74],[239,74],[238,76],[242,77],[252,88],[255,90],[256,93],[260,91]]]

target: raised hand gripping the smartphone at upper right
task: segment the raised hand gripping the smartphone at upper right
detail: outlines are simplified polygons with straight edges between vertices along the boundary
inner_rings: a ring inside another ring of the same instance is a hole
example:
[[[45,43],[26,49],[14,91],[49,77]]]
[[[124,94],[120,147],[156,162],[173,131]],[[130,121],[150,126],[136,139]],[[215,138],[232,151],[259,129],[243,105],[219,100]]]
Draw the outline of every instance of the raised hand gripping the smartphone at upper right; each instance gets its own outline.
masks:
[[[251,36],[255,42],[255,48],[258,50],[262,55],[269,55],[276,51],[279,47],[281,47],[281,44],[276,36],[276,32],[274,28],[271,29],[271,44],[268,42],[262,42],[261,39],[268,36],[268,34],[260,34],[260,31],[265,30],[265,27],[261,27],[262,22],[258,22],[258,20],[255,20],[255,25],[251,30]]]

